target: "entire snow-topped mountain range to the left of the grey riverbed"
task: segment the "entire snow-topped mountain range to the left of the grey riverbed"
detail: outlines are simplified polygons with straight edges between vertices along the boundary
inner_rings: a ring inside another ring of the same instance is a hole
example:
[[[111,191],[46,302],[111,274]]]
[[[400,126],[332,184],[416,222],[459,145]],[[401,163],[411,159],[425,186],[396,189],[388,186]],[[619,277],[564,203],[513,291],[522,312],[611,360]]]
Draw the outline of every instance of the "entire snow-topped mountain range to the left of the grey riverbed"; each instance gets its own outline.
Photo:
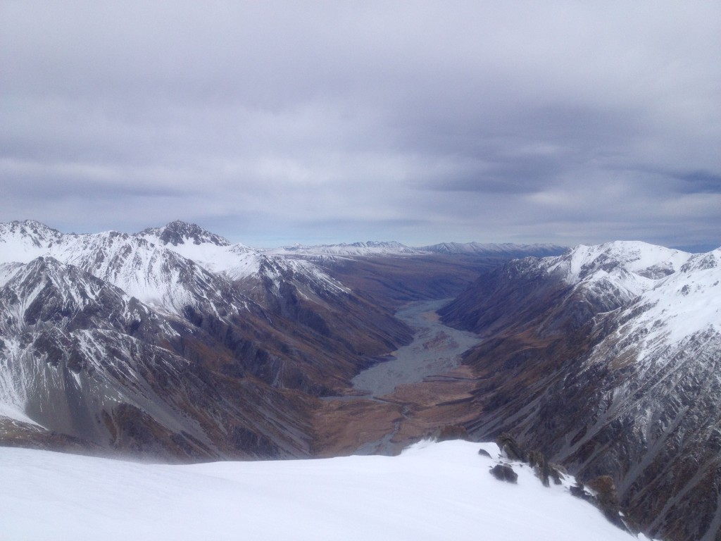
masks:
[[[194,250],[198,261],[181,253]],[[213,255],[229,273],[204,266]],[[247,260],[255,267],[234,279]],[[307,456],[319,397],[410,335],[312,263],[198,226],[136,235],[0,226],[6,444]]]

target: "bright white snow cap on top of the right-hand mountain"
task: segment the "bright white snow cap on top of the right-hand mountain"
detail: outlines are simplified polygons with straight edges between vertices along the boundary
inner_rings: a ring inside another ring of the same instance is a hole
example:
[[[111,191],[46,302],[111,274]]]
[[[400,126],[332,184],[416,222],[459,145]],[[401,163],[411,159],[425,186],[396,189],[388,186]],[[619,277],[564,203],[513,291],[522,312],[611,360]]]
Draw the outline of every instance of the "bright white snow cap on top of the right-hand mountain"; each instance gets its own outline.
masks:
[[[580,245],[540,268],[561,276],[575,294],[613,292],[619,338],[634,337],[640,358],[695,333],[721,333],[721,249],[690,254],[645,242]],[[629,340],[625,340],[629,342]]]

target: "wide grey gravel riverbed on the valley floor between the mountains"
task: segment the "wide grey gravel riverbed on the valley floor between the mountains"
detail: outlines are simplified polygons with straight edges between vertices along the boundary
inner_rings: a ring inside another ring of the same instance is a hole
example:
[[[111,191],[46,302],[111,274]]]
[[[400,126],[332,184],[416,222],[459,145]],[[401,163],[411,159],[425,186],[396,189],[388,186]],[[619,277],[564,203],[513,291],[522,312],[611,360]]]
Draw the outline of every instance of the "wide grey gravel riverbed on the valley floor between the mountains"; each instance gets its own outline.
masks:
[[[461,353],[481,341],[474,333],[446,327],[436,310],[451,299],[408,304],[396,317],[415,333],[412,343],[392,353],[388,361],[362,371],[353,378],[353,388],[374,397],[392,392],[398,385],[422,382],[461,364]]]

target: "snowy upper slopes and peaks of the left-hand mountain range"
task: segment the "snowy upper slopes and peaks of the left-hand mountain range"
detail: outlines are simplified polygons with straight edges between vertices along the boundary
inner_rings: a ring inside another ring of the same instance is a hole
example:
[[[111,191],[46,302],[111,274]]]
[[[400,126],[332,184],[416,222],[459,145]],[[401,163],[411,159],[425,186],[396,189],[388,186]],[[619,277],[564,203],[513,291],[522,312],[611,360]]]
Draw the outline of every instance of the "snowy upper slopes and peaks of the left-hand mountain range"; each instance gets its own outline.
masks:
[[[170,313],[182,315],[190,306],[224,317],[246,306],[231,280],[256,278],[273,283],[277,290],[283,278],[292,276],[316,290],[348,291],[308,260],[231,245],[182,221],[136,235],[61,234],[35,221],[1,225],[0,283],[17,263],[48,256]]]

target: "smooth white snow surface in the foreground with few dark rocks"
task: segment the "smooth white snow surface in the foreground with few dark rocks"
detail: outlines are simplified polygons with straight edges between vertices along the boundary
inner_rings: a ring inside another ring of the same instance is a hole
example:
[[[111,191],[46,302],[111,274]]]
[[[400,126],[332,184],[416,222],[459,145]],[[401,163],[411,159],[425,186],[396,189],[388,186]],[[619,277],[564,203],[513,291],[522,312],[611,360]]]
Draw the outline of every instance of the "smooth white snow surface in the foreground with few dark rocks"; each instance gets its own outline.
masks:
[[[142,465],[0,449],[0,540],[628,541],[565,486],[495,444],[422,442],[399,457]]]

